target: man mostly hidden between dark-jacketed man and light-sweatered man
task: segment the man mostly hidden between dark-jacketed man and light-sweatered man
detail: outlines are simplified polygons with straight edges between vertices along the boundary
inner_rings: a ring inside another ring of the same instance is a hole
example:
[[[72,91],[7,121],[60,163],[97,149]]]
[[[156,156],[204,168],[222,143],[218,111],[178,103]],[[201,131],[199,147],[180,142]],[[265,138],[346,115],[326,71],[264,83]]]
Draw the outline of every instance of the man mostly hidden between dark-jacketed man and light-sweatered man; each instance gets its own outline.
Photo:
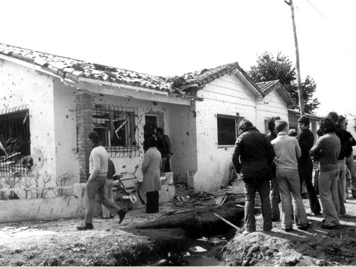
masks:
[[[277,137],[275,132],[275,121],[280,120],[280,117],[272,117],[268,120],[268,139],[272,142]],[[270,209],[272,211],[272,221],[280,221],[280,188],[278,188],[277,180],[275,179],[275,162],[270,165]]]

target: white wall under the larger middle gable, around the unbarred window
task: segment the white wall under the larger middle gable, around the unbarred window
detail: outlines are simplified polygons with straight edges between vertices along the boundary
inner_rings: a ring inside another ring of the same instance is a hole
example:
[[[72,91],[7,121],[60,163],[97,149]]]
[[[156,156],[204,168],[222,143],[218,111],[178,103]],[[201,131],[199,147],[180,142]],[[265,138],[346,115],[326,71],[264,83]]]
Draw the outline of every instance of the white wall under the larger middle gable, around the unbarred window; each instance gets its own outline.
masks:
[[[256,101],[252,92],[234,75],[225,75],[198,91],[196,102],[197,172],[195,191],[213,191],[229,181],[234,145],[218,146],[217,114],[233,115],[256,123]]]

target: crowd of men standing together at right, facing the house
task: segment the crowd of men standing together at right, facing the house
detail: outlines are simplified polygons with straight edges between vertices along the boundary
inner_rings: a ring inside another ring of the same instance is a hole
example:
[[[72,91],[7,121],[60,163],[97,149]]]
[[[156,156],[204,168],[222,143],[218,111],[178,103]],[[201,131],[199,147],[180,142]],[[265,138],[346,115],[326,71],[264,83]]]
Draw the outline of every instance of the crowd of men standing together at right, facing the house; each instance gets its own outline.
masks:
[[[264,231],[272,229],[272,222],[280,221],[282,229],[293,231],[293,221],[301,230],[310,223],[302,203],[302,184],[309,195],[314,216],[321,216],[323,229],[340,227],[339,217],[346,214],[344,202],[348,195],[345,173],[350,170],[351,191],[356,198],[356,177],[353,145],[356,141],[346,131],[343,116],[331,112],[320,122],[314,144],[309,129],[309,118],[298,120],[299,133],[288,130],[288,122],[279,117],[268,121],[268,135],[260,133],[249,120],[238,125],[241,134],[236,139],[232,162],[236,172],[242,172],[245,191],[245,231],[256,231],[254,199],[258,191],[261,198]],[[321,205],[312,184],[313,159],[318,161],[320,174],[318,190]],[[346,167],[347,165],[347,167]],[[281,209],[280,209],[281,202]]]

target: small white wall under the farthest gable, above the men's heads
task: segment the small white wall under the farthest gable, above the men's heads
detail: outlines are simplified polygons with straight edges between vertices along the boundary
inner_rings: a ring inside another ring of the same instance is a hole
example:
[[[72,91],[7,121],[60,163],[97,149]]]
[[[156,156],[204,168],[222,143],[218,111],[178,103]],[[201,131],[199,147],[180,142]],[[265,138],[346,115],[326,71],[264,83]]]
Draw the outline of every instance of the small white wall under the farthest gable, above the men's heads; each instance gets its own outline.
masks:
[[[264,119],[277,116],[289,122],[286,102],[276,90],[273,90],[266,95],[266,97],[257,102],[257,129],[259,129],[261,133],[266,133]]]

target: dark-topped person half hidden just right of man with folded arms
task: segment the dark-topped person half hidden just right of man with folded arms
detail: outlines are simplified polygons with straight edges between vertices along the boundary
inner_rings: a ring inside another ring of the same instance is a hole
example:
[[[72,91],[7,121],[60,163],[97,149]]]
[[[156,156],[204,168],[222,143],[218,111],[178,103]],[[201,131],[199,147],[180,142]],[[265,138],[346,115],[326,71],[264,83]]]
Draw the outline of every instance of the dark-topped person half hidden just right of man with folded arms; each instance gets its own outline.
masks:
[[[340,202],[340,215],[346,214],[345,200],[346,200],[346,161],[345,152],[348,146],[348,134],[343,129],[343,124],[346,123],[345,117],[337,115],[336,112],[330,112],[327,114],[328,118],[334,120],[337,124],[337,129],[335,131],[337,137],[340,139],[341,148],[339,154],[339,184],[337,186],[337,191],[339,193]]]

